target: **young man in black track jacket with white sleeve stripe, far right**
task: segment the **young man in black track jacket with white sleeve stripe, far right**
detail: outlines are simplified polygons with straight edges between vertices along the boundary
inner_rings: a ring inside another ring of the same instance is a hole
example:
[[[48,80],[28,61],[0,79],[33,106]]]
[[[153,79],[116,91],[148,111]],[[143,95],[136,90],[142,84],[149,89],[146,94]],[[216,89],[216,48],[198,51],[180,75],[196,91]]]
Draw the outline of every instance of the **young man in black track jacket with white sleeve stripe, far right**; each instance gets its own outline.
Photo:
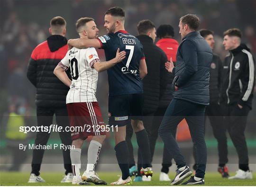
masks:
[[[223,45],[229,55],[223,64],[223,83],[220,104],[230,138],[238,153],[239,170],[229,179],[251,179],[248,150],[245,138],[247,116],[252,109],[255,86],[254,59],[238,28],[224,32]]]

